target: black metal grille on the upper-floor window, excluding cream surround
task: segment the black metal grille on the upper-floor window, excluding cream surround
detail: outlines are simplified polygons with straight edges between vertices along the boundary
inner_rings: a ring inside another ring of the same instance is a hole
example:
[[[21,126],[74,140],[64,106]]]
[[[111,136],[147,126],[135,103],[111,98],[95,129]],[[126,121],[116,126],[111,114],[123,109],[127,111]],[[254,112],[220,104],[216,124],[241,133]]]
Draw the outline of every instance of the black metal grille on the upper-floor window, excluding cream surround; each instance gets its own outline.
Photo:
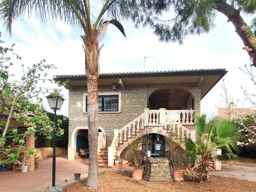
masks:
[[[87,111],[87,99],[85,110]],[[98,96],[99,111],[118,111],[119,110],[119,95],[99,95]]]

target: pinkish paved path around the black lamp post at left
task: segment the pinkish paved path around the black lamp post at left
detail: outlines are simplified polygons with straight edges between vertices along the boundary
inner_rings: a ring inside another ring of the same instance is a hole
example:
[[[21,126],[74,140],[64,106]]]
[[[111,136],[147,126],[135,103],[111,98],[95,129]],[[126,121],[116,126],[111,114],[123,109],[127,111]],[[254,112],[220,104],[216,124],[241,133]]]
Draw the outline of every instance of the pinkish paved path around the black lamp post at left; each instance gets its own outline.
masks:
[[[81,178],[87,177],[88,159],[68,161],[64,157],[56,158],[56,185],[75,182],[74,173],[81,173]],[[28,173],[0,172],[1,192],[43,192],[47,186],[52,186],[52,158],[39,160],[39,169]]]

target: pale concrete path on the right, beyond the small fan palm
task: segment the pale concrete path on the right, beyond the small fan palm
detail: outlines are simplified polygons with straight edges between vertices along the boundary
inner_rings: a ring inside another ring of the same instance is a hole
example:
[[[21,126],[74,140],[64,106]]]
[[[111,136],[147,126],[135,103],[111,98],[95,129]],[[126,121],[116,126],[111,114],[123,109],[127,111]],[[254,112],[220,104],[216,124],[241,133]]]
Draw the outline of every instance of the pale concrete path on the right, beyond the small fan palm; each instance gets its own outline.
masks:
[[[221,171],[210,171],[210,175],[227,176],[256,182],[256,167],[222,164]]]

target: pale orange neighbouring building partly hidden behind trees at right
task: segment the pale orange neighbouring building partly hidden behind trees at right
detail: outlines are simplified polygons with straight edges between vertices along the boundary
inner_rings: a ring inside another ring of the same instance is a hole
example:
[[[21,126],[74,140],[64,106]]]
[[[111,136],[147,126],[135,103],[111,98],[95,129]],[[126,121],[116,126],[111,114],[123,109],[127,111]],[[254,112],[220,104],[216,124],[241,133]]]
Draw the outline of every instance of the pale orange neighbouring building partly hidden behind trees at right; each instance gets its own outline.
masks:
[[[243,119],[250,114],[256,114],[255,109],[235,107],[234,102],[229,103],[229,107],[219,107],[218,116],[226,119]]]

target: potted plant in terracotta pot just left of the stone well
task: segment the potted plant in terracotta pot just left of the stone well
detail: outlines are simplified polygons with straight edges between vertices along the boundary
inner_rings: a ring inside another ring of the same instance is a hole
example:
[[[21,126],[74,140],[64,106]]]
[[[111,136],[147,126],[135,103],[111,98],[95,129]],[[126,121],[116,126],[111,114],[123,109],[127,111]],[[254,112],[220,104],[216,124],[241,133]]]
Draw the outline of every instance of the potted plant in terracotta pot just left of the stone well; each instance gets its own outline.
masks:
[[[134,180],[142,179],[143,170],[141,169],[141,165],[144,158],[144,152],[141,150],[142,141],[143,136],[133,140],[132,143],[128,145],[132,154],[132,162],[134,163],[134,169],[132,169],[132,178]]]

